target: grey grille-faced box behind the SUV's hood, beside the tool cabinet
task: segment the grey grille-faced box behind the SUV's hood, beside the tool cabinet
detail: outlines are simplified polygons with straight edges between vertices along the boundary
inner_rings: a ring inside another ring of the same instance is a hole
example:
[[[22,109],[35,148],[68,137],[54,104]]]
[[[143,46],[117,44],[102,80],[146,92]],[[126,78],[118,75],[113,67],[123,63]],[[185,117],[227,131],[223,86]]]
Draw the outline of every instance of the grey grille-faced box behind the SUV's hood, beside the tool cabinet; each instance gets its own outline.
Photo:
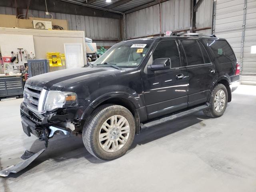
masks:
[[[50,64],[48,60],[29,60],[29,77],[50,72]]]

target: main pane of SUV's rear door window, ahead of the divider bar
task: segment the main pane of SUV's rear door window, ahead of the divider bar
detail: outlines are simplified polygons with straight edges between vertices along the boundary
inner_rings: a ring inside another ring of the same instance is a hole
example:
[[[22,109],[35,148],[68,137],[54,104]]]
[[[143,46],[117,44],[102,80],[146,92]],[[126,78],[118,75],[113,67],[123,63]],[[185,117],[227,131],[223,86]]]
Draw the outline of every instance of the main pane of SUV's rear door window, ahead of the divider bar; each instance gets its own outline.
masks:
[[[188,66],[204,64],[204,58],[197,40],[181,40],[181,43]]]

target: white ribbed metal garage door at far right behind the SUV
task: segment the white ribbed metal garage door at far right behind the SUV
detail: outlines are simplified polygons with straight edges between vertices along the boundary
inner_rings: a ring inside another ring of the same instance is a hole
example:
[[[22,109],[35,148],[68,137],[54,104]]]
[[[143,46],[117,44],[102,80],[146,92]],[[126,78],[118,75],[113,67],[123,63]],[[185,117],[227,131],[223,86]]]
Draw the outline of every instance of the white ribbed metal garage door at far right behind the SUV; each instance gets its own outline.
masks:
[[[256,1],[218,0],[215,34],[226,38],[234,49],[241,64],[241,83],[256,84],[256,54],[251,54],[251,46],[256,45]]]

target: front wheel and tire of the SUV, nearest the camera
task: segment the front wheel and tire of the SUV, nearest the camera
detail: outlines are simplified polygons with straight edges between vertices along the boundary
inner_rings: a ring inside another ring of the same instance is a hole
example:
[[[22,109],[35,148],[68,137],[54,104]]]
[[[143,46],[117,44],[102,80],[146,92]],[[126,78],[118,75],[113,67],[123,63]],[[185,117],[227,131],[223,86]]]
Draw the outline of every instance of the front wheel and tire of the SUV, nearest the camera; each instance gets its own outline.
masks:
[[[89,116],[84,124],[82,138],[90,154],[101,160],[113,160],[128,151],[134,135],[135,120],[132,113],[123,106],[105,104]]]

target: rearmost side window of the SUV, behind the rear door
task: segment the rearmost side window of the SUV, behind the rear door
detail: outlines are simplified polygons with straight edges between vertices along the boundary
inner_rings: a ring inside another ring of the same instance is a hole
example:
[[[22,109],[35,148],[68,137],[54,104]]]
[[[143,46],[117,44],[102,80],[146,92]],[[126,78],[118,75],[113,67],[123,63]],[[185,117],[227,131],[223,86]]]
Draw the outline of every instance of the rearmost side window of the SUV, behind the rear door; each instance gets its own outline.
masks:
[[[213,51],[220,63],[236,61],[236,56],[225,40],[207,40],[207,46]]]

